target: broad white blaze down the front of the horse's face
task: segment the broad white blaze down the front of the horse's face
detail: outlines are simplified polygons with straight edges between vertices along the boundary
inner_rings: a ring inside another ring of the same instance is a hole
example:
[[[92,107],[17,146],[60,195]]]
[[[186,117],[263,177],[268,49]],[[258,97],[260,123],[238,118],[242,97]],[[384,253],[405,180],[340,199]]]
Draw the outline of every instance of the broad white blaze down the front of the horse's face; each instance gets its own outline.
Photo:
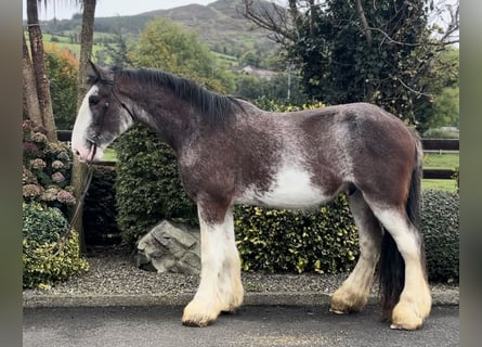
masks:
[[[74,130],[71,131],[71,147],[80,154],[80,157],[87,158],[90,147],[86,147],[87,129],[92,123],[92,112],[89,106],[89,97],[97,95],[99,87],[93,86],[86,94],[77,115]]]

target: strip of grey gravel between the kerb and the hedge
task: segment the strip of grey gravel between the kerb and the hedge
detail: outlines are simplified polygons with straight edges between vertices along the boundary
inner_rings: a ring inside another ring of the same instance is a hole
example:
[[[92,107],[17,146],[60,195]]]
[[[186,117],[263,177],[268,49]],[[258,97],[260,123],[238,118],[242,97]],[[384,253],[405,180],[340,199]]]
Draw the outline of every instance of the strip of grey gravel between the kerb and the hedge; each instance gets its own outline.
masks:
[[[183,295],[196,292],[198,275],[156,273],[135,267],[132,257],[122,249],[93,252],[87,257],[90,270],[58,283],[49,290],[24,290],[24,297],[95,296],[95,295]],[[342,274],[268,274],[243,272],[246,293],[318,293],[333,294],[348,277]],[[454,285],[432,285],[432,291],[457,290]],[[378,285],[372,287],[376,296]]]

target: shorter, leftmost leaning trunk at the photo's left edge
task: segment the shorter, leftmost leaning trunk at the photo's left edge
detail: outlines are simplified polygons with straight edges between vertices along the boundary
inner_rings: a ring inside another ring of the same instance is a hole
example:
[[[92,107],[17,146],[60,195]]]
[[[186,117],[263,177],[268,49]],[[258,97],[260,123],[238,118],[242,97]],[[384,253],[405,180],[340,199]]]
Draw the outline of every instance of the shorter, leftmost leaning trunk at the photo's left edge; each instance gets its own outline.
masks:
[[[28,52],[25,35],[23,38],[23,56],[22,56],[22,79],[24,90],[24,114],[27,115],[36,125],[42,126],[42,113],[40,111],[39,99],[37,95],[37,87],[34,76],[34,67],[31,66],[30,53]]]

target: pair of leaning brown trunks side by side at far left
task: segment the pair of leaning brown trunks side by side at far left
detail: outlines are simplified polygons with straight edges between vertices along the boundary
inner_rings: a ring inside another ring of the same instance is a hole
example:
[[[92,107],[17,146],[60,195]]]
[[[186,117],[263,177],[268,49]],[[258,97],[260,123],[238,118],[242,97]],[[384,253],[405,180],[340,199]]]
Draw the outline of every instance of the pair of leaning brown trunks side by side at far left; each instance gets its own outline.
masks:
[[[57,141],[55,120],[53,118],[52,101],[50,98],[49,79],[47,77],[45,62],[43,57],[43,40],[42,31],[39,24],[38,4],[37,0],[27,0],[27,24],[28,36],[30,40],[30,54],[31,64],[29,63],[30,56],[26,51],[25,36],[24,36],[24,53],[23,53],[23,76],[24,87],[28,93],[25,99],[28,111],[34,112],[31,114],[34,121],[40,121],[39,126],[42,126],[47,130],[47,137],[50,141]],[[31,68],[30,68],[31,67]],[[32,93],[31,73],[35,78],[35,90]],[[37,97],[37,98],[36,98]],[[41,118],[38,117],[36,104],[38,103],[40,108]]]

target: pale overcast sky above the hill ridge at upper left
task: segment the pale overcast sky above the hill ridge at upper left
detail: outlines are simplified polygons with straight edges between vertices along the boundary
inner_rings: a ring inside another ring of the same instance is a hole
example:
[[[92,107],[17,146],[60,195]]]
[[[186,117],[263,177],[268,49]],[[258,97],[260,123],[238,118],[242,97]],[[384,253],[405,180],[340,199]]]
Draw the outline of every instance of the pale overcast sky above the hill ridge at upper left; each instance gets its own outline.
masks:
[[[147,11],[173,9],[190,3],[208,4],[216,0],[97,0],[95,7],[96,17],[110,17],[116,15],[134,15]],[[80,2],[80,1],[79,1]],[[23,18],[26,15],[26,0],[23,0]],[[39,5],[39,20],[48,21],[54,17],[57,20],[70,20],[74,13],[80,12],[80,5],[74,5],[75,1],[49,0],[47,10]]]

